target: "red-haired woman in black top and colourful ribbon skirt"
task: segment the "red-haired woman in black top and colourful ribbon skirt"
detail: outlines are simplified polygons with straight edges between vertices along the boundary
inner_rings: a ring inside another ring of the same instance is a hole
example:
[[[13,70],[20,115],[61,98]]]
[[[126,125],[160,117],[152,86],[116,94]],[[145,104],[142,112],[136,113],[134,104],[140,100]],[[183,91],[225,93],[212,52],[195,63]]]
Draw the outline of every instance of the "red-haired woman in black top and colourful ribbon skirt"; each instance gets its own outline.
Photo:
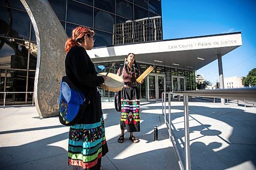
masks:
[[[101,157],[108,153],[98,86],[106,81],[97,76],[86,50],[92,50],[94,31],[77,27],[66,42],[66,75],[83,92],[91,93],[90,104],[76,125],[70,127],[68,162],[70,169],[102,169]]]

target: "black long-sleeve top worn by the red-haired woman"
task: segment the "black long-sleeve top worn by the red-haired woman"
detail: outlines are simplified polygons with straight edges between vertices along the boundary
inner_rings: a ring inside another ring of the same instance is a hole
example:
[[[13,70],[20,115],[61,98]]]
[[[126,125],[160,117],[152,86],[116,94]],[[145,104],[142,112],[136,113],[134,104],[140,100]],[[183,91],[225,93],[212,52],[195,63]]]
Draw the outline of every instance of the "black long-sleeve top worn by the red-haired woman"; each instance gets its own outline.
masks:
[[[92,93],[91,102],[77,124],[94,124],[100,121],[102,116],[100,94],[97,86],[104,83],[101,76],[97,76],[94,64],[86,50],[81,46],[70,49],[65,60],[66,75],[87,97]]]

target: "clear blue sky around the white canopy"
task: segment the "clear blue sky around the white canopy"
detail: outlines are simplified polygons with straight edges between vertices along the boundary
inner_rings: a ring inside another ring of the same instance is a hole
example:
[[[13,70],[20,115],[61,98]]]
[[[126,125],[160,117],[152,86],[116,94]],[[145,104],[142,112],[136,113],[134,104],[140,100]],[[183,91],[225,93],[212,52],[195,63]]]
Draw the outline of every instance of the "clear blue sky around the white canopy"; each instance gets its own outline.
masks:
[[[255,0],[162,0],[163,39],[242,32],[242,46],[222,57],[223,77],[246,77],[256,67]],[[197,70],[219,82],[218,60]]]

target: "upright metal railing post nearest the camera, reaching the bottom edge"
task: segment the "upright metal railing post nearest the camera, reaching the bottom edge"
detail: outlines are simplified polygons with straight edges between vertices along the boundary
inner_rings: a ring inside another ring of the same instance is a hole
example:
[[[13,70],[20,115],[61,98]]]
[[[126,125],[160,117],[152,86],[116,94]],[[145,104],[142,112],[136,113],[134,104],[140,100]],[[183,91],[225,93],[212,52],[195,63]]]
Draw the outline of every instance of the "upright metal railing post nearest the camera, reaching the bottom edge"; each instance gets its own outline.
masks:
[[[190,147],[189,147],[189,123],[188,123],[188,96],[183,95],[184,99],[184,130],[185,130],[185,162],[186,170],[191,169],[190,165]]]

